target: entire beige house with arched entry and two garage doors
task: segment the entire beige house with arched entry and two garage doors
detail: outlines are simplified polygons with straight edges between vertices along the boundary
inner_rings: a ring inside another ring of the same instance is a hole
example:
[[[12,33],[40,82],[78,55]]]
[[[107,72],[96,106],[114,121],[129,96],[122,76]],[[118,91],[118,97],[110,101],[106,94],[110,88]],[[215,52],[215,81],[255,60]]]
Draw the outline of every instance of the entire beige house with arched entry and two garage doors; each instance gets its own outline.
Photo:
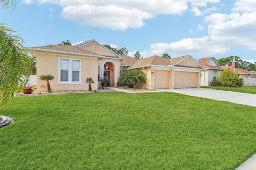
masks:
[[[117,55],[96,40],[76,45],[28,47],[37,60],[37,89],[43,91],[46,83],[40,75],[52,74],[53,90],[85,90],[86,77],[98,82],[99,77],[110,79],[110,86],[117,87],[120,73],[128,69],[141,68],[146,73],[148,89],[174,89],[200,87],[200,71],[203,67],[191,56],[174,59],[152,56],[142,60]],[[92,89],[101,87],[100,82],[92,83]],[[139,86],[139,85],[138,85]]]

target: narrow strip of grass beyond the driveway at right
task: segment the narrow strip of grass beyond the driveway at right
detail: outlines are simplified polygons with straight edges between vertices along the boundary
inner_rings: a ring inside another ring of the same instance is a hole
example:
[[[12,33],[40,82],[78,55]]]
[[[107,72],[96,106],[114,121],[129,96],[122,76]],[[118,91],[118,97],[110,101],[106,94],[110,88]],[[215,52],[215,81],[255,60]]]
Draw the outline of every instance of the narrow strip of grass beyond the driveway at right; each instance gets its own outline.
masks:
[[[201,86],[201,88],[210,88],[215,90],[235,91],[240,93],[256,94],[256,86],[243,86],[243,87],[216,87],[216,86]]]

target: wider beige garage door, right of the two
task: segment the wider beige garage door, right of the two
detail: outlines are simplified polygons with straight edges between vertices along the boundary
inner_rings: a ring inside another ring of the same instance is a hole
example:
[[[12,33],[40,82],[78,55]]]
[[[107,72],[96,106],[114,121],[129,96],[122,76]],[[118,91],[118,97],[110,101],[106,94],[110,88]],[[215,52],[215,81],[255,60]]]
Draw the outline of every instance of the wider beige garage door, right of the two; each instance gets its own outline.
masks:
[[[196,73],[175,71],[174,72],[174,88],[191,88],[196,87]]]

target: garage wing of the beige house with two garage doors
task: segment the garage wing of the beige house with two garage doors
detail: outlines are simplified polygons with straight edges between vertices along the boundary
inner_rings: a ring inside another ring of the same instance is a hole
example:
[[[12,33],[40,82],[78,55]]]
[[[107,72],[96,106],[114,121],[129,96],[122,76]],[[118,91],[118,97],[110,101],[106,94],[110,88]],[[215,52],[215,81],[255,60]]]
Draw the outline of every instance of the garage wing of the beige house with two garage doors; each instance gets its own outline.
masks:
[[[203,70],[191,55],[173,59],[154,55],[136,61],[125,70],[138,68],[146,74],[146,85],[142,88],[147,89],[200,87],[200,71]]]

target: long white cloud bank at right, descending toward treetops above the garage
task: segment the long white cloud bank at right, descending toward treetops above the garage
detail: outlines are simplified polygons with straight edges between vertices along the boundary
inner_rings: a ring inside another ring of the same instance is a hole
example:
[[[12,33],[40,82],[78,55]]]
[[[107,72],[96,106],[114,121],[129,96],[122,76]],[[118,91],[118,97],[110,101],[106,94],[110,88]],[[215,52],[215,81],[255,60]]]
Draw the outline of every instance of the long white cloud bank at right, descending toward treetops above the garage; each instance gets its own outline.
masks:
[[[142,57],[168,53],[172,57],[191,54],[206,56],[226,53],[233,47],[255,50],[256,12],[232,14],[211,14],[205,17],[208,24],[208,36],[201,38],[184,38],[170,43],[154,43]],[[203,27],[199,24],[198,29]],[[252,34],[254,33],[254,34]]]

